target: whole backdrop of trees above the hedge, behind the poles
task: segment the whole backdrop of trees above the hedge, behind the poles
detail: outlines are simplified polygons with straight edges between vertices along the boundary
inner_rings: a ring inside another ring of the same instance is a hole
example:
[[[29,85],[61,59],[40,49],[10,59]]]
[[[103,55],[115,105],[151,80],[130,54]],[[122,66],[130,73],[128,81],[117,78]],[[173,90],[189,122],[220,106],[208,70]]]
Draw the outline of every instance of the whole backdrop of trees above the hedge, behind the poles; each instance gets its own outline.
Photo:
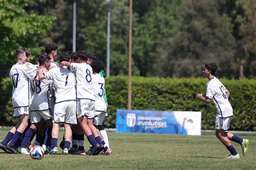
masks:
[[[76,49],[97,53],[104,64],[107,8],[107,1],[77,1]],[[14,62],[16,48],[28,47],[35,56],[46,43],[56,42],[59,52],[72,51],[72,0],[2,1],[1,10],[4,68]],[[198,77],[205,62],[217,62],[220,77],[254,77],[255,11],[253,0],[133,1],[132,74]],[[127,0],[111,2],[110,40],[110,75],[126,75]]]

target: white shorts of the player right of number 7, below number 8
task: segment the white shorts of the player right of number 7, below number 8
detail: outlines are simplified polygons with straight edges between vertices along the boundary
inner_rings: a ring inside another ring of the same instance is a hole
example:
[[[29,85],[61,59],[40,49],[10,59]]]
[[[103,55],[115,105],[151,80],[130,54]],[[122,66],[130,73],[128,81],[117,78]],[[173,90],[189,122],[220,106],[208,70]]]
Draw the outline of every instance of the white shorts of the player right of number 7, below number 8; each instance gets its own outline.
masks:
[[[86,116],[92,119],[95,116],[95,101],[88,99],[77,100],[77,118]]]

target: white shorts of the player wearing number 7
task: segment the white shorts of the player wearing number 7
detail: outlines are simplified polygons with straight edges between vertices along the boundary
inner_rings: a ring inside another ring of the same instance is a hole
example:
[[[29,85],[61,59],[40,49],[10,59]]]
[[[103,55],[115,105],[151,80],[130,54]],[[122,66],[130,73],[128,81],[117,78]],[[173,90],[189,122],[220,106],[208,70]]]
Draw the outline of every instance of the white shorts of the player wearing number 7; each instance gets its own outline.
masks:
[[[77,124],[76,101],[56,103],[52,123]]]

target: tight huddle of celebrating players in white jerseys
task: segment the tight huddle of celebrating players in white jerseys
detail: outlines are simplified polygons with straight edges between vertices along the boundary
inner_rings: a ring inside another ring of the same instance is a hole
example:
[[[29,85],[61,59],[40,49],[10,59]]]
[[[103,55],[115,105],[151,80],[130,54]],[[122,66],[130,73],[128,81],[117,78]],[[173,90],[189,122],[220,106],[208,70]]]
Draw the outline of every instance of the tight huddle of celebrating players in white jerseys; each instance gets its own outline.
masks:
[[[104,129],[107,116],[104,66],[98,55],[63,52],[54,61],[58,46],[49,43],[30,63],[30,51],[17,49],[12,66],[12,103],[17,124],[0,143],[6,153],[29,154],[31,141],[49,154],[58,153],[60,125],[65,133],[59,147],[62,154],[111,154]],[[91,144],[84,150],[84,134]],[[70,148],[72,140],[72,147]],[[9,144],[8,144],[9,143]]]

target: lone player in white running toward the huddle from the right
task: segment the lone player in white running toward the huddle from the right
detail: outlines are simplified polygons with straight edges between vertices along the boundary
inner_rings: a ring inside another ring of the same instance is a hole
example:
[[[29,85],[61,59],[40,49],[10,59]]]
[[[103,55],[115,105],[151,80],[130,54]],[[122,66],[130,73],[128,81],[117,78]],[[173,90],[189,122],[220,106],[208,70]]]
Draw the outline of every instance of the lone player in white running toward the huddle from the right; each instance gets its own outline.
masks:
[[[206,96],[203,97],[202,94],[197,94],[196,97],[206,103],[210,103],[212,100],[217,109],[217,116],[215,119],[215,134],[217,138],[223,143],[223,145],[230,151],[230,155],[227,159],[239,159],[240,155],[235,151],[234,146],[231,144],[231,141],[239,143],[242,147],[242,155],[246,155],[248,152],[248,139],[241,139],[238,136],[228,132],[230,128],[230,122],[233,117],[233,108],[228,101],[230,92],[226,87],[217,79],[214,75],[218,69],[218,66],[215,63],[205,64],[203,70],[204,76],[209,80],[206,84]]]

